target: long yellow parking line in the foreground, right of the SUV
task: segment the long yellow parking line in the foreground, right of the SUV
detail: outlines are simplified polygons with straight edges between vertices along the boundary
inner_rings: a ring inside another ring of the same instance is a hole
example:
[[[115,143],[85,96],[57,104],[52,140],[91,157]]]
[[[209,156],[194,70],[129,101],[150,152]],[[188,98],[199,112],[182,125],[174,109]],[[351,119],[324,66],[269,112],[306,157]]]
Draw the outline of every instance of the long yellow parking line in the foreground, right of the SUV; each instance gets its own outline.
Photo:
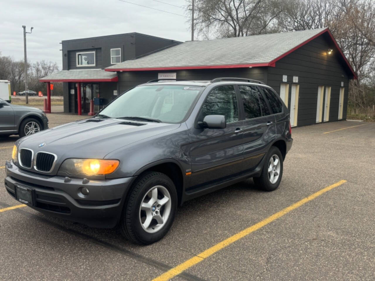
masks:
[[[166,281],[169,280],[181,272],[185,271],[186,269],[192,267],[193,265],[196,265],[197,263],[201,262],[202,260],[206,259],[207,257],[211,256],[212,254],[216,253],[217,251],[222,250],[223,248],[229,246],[230,244],[236,242],[237,240],[245,237],[246,235],[249,235],[250,233],[254,232],[255,230],[260,229],[261,227],[271,223],[272,221],[281,218],[283,215],[287,214],[288,212],[302,206],[303,204],[317,198],[318,196],[322,195],[323,193],[338,187],[339,185],[344,184],[344,182],[347,182],[345,180],[341,180],[339,182],[336,182],[335,184],[332,184],[330,186],[327,186],[318,192],[315,192],[311,194],[310,196],[303,198],[302,200],[294,203],[293,205],[290,205],[289,207],[282,209],[281,211],[271,215],[270,217],[264,219],[263,221],[260,221],[259,223],[256,223],[252,225],[251,227],[248,227],[241,232],[217,243],[216,245],[212,246],[211,248],[208,248],[207,250],[203,251],[202,253],[199,253],[198,255],[192,257],[191,259],[187,260],[186,262],[180,263],[175,268],[169,269],[169,271],[163,273],[162,275],[156,277],[152,281]]]

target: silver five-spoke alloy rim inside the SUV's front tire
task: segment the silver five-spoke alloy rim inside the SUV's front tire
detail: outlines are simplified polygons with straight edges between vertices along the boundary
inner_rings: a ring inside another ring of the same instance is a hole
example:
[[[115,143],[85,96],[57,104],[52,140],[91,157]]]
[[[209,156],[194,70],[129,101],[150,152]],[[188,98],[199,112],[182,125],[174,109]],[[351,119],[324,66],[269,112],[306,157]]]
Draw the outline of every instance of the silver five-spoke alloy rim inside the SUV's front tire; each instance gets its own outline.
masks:
[[[139,222],[148,233],[162,229],[171,214],[171,195],[162,185],[151,187],[142,199]]]

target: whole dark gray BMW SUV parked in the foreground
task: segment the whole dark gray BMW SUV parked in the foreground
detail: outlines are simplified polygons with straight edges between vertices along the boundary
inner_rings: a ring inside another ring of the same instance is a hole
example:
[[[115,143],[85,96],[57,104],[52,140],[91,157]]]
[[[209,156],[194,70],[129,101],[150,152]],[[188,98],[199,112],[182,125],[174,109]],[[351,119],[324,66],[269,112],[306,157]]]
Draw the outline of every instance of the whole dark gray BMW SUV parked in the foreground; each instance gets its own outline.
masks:
[[[150,244],[186,200],[250,177],[278,188],[292,142],[288,109],[261,82],[148,82],[93,118],[19,139],[5,187],[37,211]]]

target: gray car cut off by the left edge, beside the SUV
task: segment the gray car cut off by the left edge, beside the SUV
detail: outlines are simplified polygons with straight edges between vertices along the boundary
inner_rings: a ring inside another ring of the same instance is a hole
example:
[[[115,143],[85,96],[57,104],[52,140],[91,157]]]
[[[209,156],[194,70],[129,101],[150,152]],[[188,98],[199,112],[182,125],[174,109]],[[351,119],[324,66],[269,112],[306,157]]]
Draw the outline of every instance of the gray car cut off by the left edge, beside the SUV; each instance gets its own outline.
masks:
[[[48,129],[44,111],[23,105],[12,105],[0,99],[0,136],[32,135]]]

